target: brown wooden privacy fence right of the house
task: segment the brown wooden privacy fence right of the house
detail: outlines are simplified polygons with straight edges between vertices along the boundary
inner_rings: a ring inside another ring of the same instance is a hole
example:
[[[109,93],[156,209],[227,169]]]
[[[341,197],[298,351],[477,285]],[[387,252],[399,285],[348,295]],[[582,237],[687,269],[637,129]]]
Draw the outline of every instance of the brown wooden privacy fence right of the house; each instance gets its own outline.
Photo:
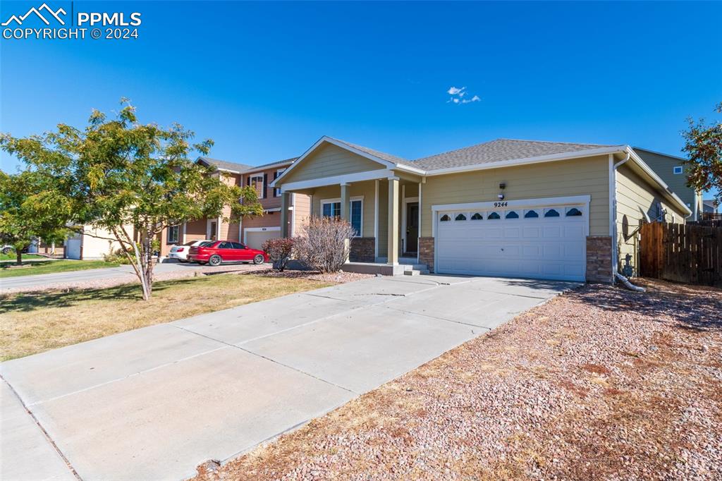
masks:
[[[722,228],[651,222],[640,235],[643,277],[722,285]]]

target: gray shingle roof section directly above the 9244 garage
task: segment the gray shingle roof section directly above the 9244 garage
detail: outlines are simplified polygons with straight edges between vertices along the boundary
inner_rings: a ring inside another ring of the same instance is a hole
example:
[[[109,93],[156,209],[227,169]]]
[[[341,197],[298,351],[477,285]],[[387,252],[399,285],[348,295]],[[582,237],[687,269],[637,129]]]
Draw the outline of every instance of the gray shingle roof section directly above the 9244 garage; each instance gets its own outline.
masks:
[[[483,144],[451,150],[414,160],[412,165],[425,170],[435,170],[465,165],[487,164],[503,160],[525,159],[540,155],[612,147],[599,144],[570,144],[567,142],[539,142],[534,140],[496,139]]]

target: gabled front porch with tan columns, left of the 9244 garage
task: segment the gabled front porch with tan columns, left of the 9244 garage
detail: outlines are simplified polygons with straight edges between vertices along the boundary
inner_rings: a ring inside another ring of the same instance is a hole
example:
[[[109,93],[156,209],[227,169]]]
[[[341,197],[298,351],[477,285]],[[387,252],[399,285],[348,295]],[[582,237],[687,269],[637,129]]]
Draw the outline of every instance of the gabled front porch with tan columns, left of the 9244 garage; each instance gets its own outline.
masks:
[[[322,137],[271,184],[281,191],[281,235],[290,235],[292,196],[305,194],[311,217],[339,217],[354,228],[347,269],[401,274],[419,267],[423,173],[383,152]]]

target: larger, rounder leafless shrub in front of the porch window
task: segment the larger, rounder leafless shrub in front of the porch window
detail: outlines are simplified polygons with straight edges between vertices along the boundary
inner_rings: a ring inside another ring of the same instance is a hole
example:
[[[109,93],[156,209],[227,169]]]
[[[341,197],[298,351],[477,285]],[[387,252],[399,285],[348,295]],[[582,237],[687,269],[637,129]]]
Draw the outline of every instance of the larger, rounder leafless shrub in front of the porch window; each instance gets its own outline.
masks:
[[[321,272],[338,272],[349,258],[346,239],[355,234],[346,220],[311,217],[295,238],[297,259]]]

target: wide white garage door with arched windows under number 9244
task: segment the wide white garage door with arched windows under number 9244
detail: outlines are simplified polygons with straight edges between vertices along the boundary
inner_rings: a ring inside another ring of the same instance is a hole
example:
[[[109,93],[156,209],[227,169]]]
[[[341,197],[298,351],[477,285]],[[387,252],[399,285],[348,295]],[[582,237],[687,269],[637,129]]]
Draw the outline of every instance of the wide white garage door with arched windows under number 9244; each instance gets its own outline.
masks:
[[[438,272],[585,280],[588,204],[490,204],[435,212]]]

